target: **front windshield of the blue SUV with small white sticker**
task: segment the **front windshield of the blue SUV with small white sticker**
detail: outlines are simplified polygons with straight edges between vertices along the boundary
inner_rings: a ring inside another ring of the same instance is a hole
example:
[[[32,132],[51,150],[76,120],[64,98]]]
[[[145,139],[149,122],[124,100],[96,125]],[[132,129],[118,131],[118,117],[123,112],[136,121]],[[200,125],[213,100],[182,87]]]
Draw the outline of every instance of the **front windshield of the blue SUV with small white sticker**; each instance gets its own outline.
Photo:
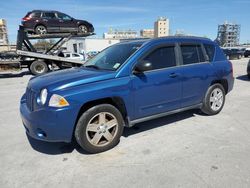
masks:
[[[116,44],[88,60],[83,66],[95,69],[117,70],[141,44]]]

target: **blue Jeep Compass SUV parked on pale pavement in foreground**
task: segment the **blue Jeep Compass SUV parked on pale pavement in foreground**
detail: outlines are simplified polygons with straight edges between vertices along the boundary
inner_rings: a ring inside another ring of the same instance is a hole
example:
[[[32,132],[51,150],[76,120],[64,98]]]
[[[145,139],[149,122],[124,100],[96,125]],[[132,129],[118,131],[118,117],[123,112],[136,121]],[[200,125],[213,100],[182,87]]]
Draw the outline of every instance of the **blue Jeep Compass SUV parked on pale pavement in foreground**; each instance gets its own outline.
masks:
[[[199,108],[221,111],[232,64],[209,39],[166,37],[113,45],[79,68],[32,78],[21,99],[27,134],[90,153],[114,147],[124,126]]]

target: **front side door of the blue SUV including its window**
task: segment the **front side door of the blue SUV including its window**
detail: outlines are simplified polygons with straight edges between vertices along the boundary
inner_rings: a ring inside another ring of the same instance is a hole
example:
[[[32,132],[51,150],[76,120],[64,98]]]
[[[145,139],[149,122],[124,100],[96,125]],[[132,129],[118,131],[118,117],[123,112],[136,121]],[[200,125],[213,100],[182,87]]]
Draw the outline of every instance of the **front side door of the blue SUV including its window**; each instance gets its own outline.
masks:
[[[181,75],[175,52],[175,45],[163,46],[142,59],[152,64],[152,70],[131,77],[135,110],[131,119],[181,107]]]

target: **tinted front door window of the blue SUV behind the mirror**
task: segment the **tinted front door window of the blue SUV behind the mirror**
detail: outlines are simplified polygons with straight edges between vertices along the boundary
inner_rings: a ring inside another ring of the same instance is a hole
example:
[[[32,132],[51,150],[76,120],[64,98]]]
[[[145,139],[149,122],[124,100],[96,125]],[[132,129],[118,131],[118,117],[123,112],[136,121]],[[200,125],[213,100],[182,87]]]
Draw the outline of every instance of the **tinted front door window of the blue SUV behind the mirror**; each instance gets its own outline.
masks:
[[[152,63],[152,70],[176,66],[175,47],[162,47],[154,50],[144,58]]]

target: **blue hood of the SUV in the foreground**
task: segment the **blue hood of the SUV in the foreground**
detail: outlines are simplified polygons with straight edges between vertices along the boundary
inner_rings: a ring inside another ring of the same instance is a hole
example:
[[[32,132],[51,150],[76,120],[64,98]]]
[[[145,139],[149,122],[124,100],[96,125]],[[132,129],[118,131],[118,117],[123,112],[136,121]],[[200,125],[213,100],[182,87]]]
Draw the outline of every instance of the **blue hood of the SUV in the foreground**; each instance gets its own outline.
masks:
[[[101,71],[90,68],[71,68],[55,71],[42,76],[34,77],[28,87],[40,91],[47,88],[50,91],[66,89],[74,86],[108,80],[115,77],[113,71]]]

